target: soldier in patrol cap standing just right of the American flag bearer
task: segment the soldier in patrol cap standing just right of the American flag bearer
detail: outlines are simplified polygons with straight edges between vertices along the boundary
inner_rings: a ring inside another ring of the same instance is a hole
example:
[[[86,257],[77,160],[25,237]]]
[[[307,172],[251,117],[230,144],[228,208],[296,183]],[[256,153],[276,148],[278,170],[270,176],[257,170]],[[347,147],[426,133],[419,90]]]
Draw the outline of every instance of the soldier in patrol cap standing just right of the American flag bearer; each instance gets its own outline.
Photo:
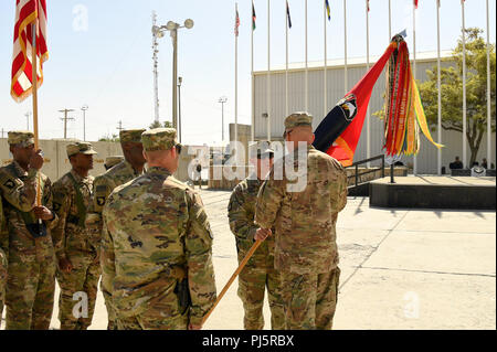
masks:
[[[85,227],[93,189],[88,171],[93,169],[96,151],[88,142],[70,143],[66,150],[72,169],[53,184],[53,209],[59,216],[59,224],[52,231],[61,287],[59,320],[61,330],[86,330],[92,323],[101,277],[101,238],[92,237]],[[74,310],[80,303],[76,292],[86,294],[81,299],[87,301],[84,305],[87,311]]]

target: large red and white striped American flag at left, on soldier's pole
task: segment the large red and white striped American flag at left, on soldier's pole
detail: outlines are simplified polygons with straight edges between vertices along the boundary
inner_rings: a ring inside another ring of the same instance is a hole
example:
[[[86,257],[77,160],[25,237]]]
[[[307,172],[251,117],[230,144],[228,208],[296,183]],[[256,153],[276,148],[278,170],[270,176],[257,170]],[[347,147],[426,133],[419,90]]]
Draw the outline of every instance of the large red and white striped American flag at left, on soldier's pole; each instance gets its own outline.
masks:
[[[33,22],[36,21],[38,87],[43,83],[43,63],[49,60],[46,47],[46,0],[15,0],[15,26],[10,94],[22,102],[32,93]]]

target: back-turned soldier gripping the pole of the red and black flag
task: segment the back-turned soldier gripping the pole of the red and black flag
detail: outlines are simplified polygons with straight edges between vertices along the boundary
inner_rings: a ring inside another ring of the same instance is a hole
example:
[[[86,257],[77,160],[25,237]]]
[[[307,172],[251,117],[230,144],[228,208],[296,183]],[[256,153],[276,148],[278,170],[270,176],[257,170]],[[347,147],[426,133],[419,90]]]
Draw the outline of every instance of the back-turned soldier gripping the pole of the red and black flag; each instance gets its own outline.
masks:
[[[340,276],[336,223],[347,203],[347,177],[337,160],[311,146],[311,121],[307,113],[285,119],[290,156],[275,162],[263,183],[255,222],[276,227],[275,267],[282,273],[286,329],[329,330]],[[288,167],[297,170],[296,183]],[[275,177],[275,170],[282,170],[283,178]]]

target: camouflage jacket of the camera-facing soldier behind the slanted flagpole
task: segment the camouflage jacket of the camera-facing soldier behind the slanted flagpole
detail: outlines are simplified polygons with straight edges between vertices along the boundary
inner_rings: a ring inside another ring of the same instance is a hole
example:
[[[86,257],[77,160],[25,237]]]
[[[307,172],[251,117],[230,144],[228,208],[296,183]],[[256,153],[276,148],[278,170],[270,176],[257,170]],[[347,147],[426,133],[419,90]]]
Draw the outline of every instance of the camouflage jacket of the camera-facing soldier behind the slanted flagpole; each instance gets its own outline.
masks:
[[[254,244],[254,235],[260,226],[254,222],[255,202],[262,181],[255,175],[240,182],[231,193],[228,204],[228,217],[230,228],[236,238],[236,252],[239,262],[243,260]],[[274,236],[264,241],[251,259],[246,268],[273,268],[274,267]]]

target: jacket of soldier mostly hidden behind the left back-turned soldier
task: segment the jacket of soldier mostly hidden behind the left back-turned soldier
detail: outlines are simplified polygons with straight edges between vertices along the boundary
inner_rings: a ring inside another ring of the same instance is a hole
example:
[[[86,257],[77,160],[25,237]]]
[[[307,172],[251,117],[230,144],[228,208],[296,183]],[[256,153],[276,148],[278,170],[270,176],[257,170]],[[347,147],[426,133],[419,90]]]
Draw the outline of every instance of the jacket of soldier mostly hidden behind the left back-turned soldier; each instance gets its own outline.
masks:
[[[126,160],[119,162],[107,172],[95,178],[93,182],[92,204],[86,216],[86,226],[93,236],[102,237],[102,211],[108,195],[118,185],[125,184],[139,177]]]

